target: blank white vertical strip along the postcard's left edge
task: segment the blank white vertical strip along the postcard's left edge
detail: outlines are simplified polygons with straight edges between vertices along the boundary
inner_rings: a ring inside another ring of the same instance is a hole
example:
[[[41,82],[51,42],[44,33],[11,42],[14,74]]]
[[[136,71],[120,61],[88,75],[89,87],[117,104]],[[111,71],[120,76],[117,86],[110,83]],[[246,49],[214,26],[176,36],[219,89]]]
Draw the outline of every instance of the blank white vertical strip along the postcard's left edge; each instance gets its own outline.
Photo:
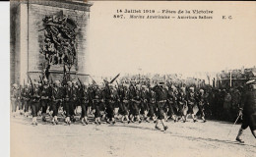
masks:
[[[10,156],[10,2],[0,2],[0,156]]]

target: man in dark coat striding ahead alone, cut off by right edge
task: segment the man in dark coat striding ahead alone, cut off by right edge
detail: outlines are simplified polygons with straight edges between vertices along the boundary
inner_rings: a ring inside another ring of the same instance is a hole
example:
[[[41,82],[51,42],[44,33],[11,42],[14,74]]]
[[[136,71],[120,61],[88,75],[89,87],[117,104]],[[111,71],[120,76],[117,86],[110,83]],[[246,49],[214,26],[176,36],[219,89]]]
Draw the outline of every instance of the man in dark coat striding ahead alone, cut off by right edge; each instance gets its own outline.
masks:
[[[242,113],[243,120],[236,136],[236,140],[242,143],[244,141],[240,136],[248,127],[256,138],[256,80],[249,80],[246,83],[249,85],[249,90],[242,96],[240,114]]]

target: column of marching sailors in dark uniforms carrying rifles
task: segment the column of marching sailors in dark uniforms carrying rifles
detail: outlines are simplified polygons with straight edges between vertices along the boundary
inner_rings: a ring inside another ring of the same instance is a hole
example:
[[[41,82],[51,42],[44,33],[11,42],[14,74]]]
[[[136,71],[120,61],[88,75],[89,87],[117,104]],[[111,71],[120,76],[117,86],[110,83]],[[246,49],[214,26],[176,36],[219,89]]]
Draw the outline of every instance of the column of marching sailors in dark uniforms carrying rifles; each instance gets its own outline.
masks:
[[[189,115],[197,122],[194,108],[198,108],[202,121],[205,120],[204,106],[208,105],[207,96],[203,89],[194,91],[194,87],[175,87],[172,85],[141,85],[122,83],[116,86],[105,82],[102,85],[77,83],[56,80],[49,83],[45,78],[41,83],[33,82],[19,86],[13,84],[12,113],[15,117],[17,107],[26,117],[32,115],[32,125],[37,126],[37,116],[41,115],[42,122],[50,116],[53,125],[59,123],[61,117],[70,125],[76,120],[78,106],[81,106],[81,123],[89,124],[89,116],[94,117],[95,123],[101,121],[115,124],[116,119],[121,123],[150,122],[156,123],[156,129],[167,130],[165,122],[185,123]],[[117,109],[117,112],[116,112]],[[31,111],[31,112],[29,112]],[[47,112],[48,111],[48,112]],[[30,114],[29,114],[30,113]],[[58,115],[61,117],[58,117]],[[59,119],[58,119],[59,118]]]

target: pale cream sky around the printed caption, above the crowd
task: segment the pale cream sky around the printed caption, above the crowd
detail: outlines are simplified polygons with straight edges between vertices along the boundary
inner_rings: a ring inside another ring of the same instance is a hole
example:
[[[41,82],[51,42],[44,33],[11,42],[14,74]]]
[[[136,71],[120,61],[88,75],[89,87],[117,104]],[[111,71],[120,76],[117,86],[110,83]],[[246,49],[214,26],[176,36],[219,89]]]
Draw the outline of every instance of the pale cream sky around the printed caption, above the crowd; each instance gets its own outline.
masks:
[[[185,74],[256,65],[256,3],[188,3],[94,2],[88,29],[89,74]],[[117,9],[213,10],[214,19],[117,20]],[[222,19],[229,15],[232,20]]]

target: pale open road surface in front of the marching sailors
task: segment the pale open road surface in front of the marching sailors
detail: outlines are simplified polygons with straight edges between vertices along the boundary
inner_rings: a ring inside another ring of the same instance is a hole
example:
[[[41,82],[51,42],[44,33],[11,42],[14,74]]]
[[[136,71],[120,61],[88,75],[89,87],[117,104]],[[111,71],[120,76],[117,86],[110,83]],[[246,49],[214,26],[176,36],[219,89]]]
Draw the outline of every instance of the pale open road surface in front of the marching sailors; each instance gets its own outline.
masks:
[[[41,124],[31,119],[11,118],[12,157],[255,157],[256,140],[247,129],[245,144],[234,141],[239,125],[168,122],[167,131],[156,131],[154,123],[66,126]],[[40,120],[39,120],[40,122]],[[232,128],[229,136],[228,131]]]

